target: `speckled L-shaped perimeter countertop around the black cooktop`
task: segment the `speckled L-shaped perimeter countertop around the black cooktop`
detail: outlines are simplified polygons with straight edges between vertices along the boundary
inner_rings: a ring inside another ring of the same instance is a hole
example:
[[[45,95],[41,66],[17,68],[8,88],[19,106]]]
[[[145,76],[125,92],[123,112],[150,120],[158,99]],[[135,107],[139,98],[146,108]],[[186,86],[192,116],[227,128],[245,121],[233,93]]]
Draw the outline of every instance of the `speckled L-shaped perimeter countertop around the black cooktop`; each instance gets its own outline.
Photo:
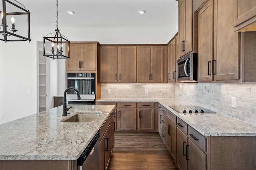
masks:
[[[192,128],[196,129],[204,136],[256,136],[256,126],[239,121],[232,117],[227,117],[220,113],[207,113],[207,114],[186,114],[178,113],[174,109],[170,108],[170,105],[192,105],[184,101],[176,99],[112,99],[112,98],[101,98],[97,100],[105,102],[159,102],[161,105],[166,107],[174,115],[182,119]],[[209,109],[209,108],[206,108]]]

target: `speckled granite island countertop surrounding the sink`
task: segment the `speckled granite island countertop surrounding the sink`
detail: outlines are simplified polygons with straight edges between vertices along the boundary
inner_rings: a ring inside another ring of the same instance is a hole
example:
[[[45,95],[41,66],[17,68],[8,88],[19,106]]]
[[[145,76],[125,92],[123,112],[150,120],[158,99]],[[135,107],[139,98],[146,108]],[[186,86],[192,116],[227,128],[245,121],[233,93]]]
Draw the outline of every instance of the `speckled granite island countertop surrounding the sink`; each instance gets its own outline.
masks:
[[[63,123],[62,106],[0,125],[0,160],[76,160],[114,105],[68,105],[68,117],[101,111],[88,123]]]

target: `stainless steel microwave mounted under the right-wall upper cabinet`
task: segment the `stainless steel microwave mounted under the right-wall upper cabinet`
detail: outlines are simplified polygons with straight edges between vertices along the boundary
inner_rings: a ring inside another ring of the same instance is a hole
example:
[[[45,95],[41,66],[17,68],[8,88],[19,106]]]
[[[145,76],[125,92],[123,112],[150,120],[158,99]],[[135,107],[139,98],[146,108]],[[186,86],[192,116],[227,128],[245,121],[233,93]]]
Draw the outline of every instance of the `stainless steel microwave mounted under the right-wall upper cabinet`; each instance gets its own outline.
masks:
[[[188,53],[178,59],[178,81],[197,81],[197,53]]]

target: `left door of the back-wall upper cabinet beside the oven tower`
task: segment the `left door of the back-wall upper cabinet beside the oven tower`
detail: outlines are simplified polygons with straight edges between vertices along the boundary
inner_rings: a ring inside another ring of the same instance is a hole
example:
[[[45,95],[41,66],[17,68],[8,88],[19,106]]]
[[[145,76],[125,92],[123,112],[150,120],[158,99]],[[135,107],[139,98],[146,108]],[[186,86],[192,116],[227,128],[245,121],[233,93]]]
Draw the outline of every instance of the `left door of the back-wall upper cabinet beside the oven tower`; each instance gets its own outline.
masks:
[[[117,82],[117,47],[100,47],[100,82]]]

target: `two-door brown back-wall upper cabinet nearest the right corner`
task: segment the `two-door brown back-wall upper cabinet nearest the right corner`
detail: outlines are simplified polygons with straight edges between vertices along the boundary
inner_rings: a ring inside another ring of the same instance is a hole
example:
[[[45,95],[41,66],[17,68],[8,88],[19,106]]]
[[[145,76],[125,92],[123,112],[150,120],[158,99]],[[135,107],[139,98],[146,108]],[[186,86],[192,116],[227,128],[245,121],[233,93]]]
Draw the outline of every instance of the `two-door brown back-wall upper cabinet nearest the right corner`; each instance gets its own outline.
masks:
[[[137,46],[138,83],[164,82],[164,46]]]

